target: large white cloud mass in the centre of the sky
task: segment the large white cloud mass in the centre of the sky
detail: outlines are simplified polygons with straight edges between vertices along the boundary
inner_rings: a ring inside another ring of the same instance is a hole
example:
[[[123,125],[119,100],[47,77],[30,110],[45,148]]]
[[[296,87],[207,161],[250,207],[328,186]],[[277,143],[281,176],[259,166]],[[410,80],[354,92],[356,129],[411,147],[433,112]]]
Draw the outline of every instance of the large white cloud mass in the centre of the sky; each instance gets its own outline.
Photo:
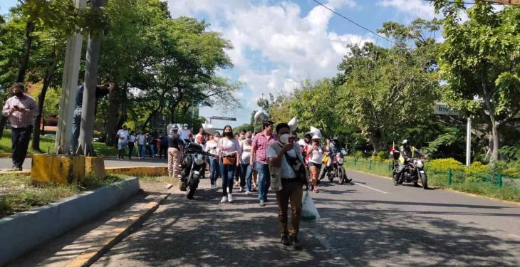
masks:
[[[353,0],[330,0],[331,9],[353,8]],[[256,99],[262,93],[290,93],[301,80],[331,77],[338,63],[348,52],[348,44],[373,41],[370,36],[340,35],[328,29],[333,13],[323,6],[314,6],[302,14],[300,6],[284,1],[271,4],[246,0],[170,0],[172,16],[209,16],[211,29],[222,31],[232,41],[228,51],[250,92],[242,105],[248,120],[250,111],[258,108]],[[254,54],[255,58],[251,58]],[[269,66],[263,68],[262,66]],[[248,90],[248,91],[249,91]]]

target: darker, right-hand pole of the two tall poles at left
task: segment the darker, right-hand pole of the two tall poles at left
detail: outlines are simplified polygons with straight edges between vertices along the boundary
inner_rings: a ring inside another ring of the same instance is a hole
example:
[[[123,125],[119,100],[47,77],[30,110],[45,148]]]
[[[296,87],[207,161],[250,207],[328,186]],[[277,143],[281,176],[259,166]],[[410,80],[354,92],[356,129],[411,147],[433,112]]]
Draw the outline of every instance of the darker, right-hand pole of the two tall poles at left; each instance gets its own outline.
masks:
[[[101,10],[103,0],[90,0],[90,7]],[[77,153],[95,156],[92,147],[95,112],[95,87],[98,83],[98,62],[101,46],[101,35],[98,29],[90,31],[87,46],[87,63],[85,66],[85,89],[83,90],[83,110],[81,112],[80,139]]]

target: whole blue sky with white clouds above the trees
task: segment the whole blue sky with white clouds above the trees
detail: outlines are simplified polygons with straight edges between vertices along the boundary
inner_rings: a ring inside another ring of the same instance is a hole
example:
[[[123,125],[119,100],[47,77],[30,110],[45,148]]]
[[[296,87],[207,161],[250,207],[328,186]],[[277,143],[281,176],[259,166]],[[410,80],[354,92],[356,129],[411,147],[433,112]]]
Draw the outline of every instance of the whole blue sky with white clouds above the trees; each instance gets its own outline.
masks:
[[[435,11],[424,0],[318,0],[343,16],[375,31],[385,21],[410,23],[432,19]],[[219,31],[232,42],[227,51],[233,68],[219,75],[244,86],[235,97],[241,108],[201,108],[204,117],[236,117],[236,122],[214,121],[215,127],[237,126],[250,120],[258,110],[256,100],[269,93],[290,93],[303,80],[330,78],[348,53],[348,44],[373,42],[390,46],[388,41],[355,26],[313,0],[167,0],[173,17],[204,19],[209,31]],[[5,14],[16,0],[1,0]]]

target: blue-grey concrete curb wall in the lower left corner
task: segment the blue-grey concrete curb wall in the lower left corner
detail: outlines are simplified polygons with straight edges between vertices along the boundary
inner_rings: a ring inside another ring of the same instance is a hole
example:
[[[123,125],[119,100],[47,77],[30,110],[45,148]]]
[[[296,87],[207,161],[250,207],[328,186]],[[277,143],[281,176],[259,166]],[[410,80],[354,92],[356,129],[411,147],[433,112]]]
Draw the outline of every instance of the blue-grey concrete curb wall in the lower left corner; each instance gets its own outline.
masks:
[[[139,179],[84,192],[0,219],[0,266],[95,218],[139,191]]]

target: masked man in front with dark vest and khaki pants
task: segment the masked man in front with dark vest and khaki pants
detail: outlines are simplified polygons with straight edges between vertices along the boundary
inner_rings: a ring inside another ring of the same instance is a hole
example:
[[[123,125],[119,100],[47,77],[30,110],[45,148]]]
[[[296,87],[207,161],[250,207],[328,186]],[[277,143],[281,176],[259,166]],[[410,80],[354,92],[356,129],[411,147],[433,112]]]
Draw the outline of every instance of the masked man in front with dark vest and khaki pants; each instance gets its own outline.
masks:
[[[271,186],[276,190],[278,203],[278,220],[280,224],[281,244],[293,244],[301,249],[298,240],[300,216],[303,197],[303,185],[307,184],[307,175],[298,143],[290,138],[289,126],[286,123],[276,125],[279,141],[270,145],[266,156],[271,172]],[[287,209],[291,203],[291,227],[287,229]]]

